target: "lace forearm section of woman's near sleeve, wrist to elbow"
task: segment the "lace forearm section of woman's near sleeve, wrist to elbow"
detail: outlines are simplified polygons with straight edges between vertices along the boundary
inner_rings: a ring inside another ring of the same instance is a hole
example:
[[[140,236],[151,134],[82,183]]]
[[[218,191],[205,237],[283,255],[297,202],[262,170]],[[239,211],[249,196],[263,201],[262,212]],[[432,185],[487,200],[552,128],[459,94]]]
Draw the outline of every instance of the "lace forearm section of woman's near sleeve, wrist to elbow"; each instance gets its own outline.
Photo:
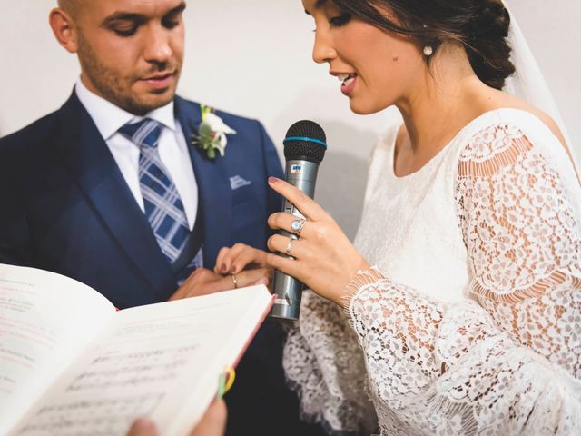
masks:
[[[579,429],[581,383],[515,346],[476,302],[448,307],[384,278],[360,288],[348,310],[368,362],[381,434]],[[402,322],[398,314],[409,310],[413,322]]]

